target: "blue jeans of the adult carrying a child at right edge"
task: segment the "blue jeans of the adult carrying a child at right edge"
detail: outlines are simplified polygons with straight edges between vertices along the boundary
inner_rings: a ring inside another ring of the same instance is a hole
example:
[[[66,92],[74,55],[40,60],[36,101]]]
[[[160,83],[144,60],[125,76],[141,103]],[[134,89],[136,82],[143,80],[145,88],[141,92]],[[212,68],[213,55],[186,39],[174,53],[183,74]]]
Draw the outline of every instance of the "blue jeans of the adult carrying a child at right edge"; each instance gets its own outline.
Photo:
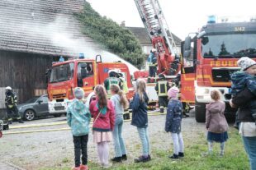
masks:
[[[249,163],[251,170],[256,170],[256,136],[243,136],[244,149],[249,156]]]

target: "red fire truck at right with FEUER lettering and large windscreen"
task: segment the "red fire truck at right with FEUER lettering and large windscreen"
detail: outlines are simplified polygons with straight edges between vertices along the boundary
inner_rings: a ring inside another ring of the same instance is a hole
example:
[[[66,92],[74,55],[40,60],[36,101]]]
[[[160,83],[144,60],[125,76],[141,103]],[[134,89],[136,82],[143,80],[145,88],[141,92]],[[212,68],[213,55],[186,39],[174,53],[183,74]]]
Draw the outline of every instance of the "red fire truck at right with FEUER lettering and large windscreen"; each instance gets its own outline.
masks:
[[[195,103],[197,122],[205,122],[211,90],[220,90],[225,113],[234,114],[228,104],[230,75],[239,70],[240,57],[256,59],[256,22],[216,23],[211,16],[193,38],[185,39],[182,52],[181,97],[183,102]]]

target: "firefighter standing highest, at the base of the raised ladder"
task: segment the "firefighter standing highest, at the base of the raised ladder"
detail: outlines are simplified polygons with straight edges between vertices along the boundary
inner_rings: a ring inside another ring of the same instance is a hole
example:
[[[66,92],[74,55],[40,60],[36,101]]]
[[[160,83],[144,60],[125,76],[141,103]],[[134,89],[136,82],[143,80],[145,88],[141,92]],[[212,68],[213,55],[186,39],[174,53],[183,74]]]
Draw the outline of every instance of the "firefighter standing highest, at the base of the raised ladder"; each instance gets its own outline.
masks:
[[[157,51],[155,48],[151,49],[148,57],[149,62],[149,79],[148,83],[150,83],[150,80],[153,78],[155,80],[155,75],[157,71]]]

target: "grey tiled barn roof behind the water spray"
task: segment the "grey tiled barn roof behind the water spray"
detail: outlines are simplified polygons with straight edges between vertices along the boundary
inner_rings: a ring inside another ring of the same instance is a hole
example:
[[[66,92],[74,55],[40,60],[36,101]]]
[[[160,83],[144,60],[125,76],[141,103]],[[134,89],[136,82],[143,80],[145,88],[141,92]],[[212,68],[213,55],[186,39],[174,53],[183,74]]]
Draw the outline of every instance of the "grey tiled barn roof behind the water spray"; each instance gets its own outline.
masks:
[[[1,0],[0,49],[73,56],[81,45],[96,46],[81,32],[73,13],[84,0]],[[82,42],[82,43],[81,43]]]

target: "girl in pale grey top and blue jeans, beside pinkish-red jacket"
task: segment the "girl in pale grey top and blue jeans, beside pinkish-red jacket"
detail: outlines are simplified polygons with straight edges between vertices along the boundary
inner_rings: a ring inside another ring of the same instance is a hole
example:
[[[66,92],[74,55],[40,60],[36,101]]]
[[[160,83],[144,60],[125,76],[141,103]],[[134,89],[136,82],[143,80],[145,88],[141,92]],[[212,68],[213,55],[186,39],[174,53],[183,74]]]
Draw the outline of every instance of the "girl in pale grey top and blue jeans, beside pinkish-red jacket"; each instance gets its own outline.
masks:
[[[124,108],[127,108],[127,99],[125,94],[123,94],[122,90],[118,85],[111,85],[111,102],[115,107],[115,126],[114,131],[112,132],[114,139],[114,147],[115,147],[115,158],[111,159],[113,162],[121,162],[121,160],[126,160],[126,145],[121,136],[122,126],[124,122],[123,113]]]

